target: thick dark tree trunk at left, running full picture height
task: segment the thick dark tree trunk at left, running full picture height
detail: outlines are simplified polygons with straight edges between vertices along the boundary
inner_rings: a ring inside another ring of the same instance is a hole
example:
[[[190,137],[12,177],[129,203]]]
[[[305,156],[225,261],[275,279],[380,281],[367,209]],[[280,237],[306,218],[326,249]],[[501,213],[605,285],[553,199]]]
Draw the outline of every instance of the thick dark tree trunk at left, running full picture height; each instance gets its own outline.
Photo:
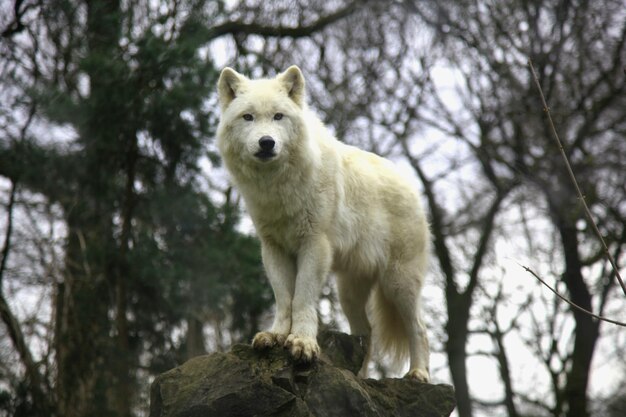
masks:
[[[87,1],[85,69],[90,92],[79,128],[84,151],[76,187],[81,195],[64,204],[66,273],[59,291],[63,298],[57,302],[57,392],[64,417],[130,415],[126,288],[113,226],[120,215],[116,179],[124,121],[119,119],[122,67],[115,59],[119,6],[119,1]]]

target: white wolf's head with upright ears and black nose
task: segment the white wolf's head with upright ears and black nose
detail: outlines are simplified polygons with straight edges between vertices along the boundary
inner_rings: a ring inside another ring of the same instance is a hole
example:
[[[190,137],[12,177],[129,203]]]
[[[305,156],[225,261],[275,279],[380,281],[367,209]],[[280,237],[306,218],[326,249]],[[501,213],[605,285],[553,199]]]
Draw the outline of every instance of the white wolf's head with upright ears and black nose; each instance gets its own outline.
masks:
[[[271,164],[299,146],[305,104],[304,77],[298,67],[260,80],[224,68],[217,89],[222,113],[218,147],[225,159]]]

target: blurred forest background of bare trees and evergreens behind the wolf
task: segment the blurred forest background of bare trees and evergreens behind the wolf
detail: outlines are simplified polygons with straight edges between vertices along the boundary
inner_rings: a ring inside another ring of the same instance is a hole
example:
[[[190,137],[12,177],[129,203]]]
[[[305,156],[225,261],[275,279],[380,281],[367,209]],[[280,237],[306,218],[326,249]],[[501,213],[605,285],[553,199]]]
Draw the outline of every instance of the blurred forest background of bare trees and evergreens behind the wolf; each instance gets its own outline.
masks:
[[[272,294],[215,151],[225,65],[299,65],[337,137],[424,195],[431,372],[457,415],[626,415],[621,0],[0,2],[0,416],[145,416]],[[332,280],[325,326],[347,330]],[[393,375],[384,358],[374,370]]]

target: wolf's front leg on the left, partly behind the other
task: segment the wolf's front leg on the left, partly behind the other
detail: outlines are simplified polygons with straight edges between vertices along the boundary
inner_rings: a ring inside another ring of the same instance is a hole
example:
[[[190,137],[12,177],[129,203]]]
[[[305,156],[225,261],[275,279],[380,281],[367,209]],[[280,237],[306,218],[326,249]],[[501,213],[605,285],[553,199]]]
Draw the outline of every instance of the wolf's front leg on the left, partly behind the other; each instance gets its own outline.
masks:
[[[259,332],[252,340],[255,349],[270,348],[282,345],[291,332],[291,300],[296,282],[296,261],[282,249],[262,242],[261,255],[265,272],[269,278],[274,299],[276,315],[274,324],[268,332]]]

